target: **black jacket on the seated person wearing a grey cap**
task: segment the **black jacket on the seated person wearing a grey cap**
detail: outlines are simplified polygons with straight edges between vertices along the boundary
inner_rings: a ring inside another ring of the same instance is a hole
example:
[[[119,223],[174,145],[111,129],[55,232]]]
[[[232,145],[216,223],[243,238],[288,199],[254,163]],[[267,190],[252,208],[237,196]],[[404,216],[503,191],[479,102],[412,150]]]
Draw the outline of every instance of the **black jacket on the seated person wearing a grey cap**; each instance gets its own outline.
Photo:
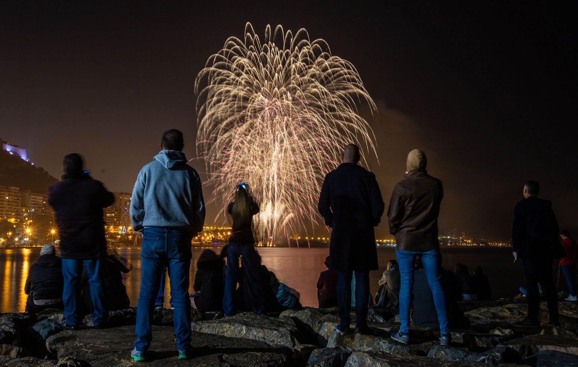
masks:
[[[36,301],[40,299],[61,299],[64,278],[60,257],[45,254],[30,266],[24,286],[25,294]]]

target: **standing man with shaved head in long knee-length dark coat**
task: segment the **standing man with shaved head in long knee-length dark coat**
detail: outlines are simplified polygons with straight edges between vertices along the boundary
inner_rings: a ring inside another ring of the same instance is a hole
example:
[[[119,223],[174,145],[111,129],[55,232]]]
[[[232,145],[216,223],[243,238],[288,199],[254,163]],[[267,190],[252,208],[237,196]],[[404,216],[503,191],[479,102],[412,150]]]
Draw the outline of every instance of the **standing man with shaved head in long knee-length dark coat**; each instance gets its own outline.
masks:
[[[349,144],[341,155],[343,163],[325,176],[319,197],[319,213],[332,228],[329,269],[339,271],[337,285],[339,317],[337,328],[349,332],[351,280],[355,272],[355,313],[357,328],[372,333],[367,326],[369,270],[377,270],[377,249],[373,227],[379,224],[384,203],[375,175],[360,165],[360,150]]]

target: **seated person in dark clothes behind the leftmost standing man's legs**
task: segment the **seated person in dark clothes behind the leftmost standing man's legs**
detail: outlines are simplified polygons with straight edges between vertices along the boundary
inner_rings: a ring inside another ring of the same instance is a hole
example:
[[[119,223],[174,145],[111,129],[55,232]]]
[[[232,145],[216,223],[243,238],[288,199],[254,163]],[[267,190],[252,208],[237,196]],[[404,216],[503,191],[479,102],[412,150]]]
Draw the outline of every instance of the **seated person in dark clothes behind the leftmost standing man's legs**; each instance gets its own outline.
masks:
[[[131,271],[132,266],[128,264],[124,266],[123,262],[118,260],[118,258],[124,258],[118,255],[117,251],[114,249],[107,249],[106,256],[101,260],[101,279],[103,282],[103,306],[107,311],[124,310],[131,307],[131,301],[128,298],[127,288],[123,283],[123,273],[128,273]],[[90,295],[90,286],[88,284],[86,272],[83,273],[83,287],[82,294],[84,299],[84,305],[86,306],[87,312],[92,312],[94,306],[92,306],[92,298]]]

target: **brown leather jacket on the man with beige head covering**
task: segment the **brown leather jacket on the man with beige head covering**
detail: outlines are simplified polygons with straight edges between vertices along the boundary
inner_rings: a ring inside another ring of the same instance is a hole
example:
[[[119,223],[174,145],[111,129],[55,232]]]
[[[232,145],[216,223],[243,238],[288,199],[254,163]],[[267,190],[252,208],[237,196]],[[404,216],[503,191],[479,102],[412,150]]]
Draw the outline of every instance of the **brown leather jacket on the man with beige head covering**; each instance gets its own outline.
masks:
[[[387,217],[390,233],[399,251],[439,249],[438,214],[442,202],[442,181],[429,176],[425,169],[409,172],[395,185]]]

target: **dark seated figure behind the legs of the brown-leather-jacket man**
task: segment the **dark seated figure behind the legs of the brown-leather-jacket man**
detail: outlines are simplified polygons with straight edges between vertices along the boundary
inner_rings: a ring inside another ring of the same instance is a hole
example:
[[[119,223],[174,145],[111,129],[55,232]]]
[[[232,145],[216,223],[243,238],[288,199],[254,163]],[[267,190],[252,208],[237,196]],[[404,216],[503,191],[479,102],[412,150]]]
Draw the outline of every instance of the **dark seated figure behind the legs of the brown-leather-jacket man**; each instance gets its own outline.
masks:
[[[455,274],[451,270],[440,269],[440,283],[446,298],[447,318],[450,328],[469,328],[469,318],[464,315],[458,306],[461,299],[457,288]],[[416,270],[413,273],[413,311],[412,321],[414,325],[439,327],[438,313],[433,305],[432,292],[429,289],[425,270],[420,260],[416,260]]]

